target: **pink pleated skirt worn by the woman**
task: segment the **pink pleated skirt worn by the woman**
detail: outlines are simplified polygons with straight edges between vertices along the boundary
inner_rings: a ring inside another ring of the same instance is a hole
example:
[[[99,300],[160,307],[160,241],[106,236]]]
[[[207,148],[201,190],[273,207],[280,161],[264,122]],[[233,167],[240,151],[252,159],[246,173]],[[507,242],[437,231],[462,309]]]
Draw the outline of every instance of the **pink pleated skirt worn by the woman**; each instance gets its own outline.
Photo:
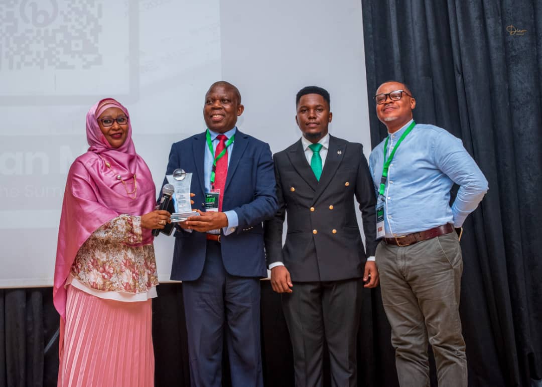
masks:
[[[151,300],[106,300],[69,285],[58,386],[152,387],[151,321]]]

